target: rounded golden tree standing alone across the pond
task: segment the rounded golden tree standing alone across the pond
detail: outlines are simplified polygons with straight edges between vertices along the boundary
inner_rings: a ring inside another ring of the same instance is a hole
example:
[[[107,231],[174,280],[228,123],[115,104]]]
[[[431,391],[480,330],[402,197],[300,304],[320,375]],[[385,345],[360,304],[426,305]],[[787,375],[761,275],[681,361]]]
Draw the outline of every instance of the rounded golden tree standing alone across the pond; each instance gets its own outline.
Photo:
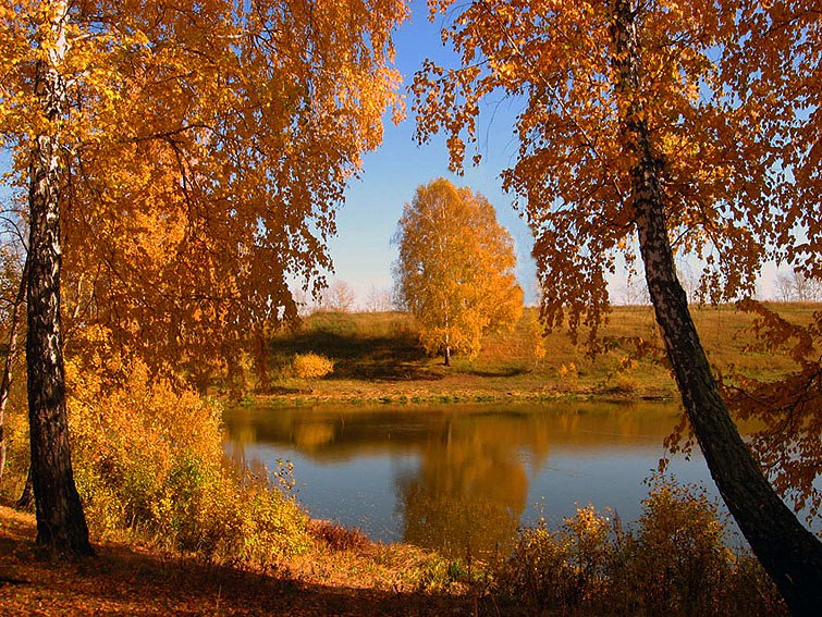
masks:
[[[511,326],[523,312],[514,243],[493,206],[444,178],[417,187],[395,242],[397,287],[420,326],[428,354],[475,355],[483,332]]]

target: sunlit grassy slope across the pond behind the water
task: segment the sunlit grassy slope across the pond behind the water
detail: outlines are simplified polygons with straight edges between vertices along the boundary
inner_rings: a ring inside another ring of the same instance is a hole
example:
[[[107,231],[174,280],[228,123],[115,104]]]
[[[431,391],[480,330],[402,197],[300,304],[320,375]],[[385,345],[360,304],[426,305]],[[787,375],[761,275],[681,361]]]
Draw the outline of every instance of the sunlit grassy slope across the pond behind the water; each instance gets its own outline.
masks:
[[[778,305],[787,319],[807,322],[815,305]],[[783,355],[758,349],[748,328],[751,316],[733,307],[701,307],[694,318],[710,361],[759,379],[774,379],[794,368]],[[271,342],[267,384],[257,398],[283,404],[322,400],[422,403],[501,398],[668,398],[675,384],[663,355],[636,358],[631,338],[661,350],[651,307],[615,307],[601,331],[606,344],[597,354],[575,345],[565,332],[540,341],[537,309],[526,309],[512,331],[489,334],[476,358],[456,356],[453,366],[426,357],[414,319],[402,312],[309,316]],[[585,338],[581,336],[580,340]],[[544,355],[539,354],[542,347]],[[295,354],[315,353],[334,360],[322,379],[297,379],[290,371]]]

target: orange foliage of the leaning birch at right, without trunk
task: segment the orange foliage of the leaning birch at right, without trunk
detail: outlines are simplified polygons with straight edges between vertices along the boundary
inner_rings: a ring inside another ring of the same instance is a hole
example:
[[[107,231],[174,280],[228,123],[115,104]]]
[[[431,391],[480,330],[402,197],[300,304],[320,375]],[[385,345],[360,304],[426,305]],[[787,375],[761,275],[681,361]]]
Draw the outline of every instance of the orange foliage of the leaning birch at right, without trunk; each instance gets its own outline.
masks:
[[[793,111],[806,95],[818,103],[822,91],[812,83],[810,60],[820,53],[811,41],[820,40],[822,22],[803,10],[807,2],[778,9],[746,1],[638,3],[642,70],[631,91],[617,84],[610,2],[444,0],[430,7],[452,20],[443,40],[462,66],[427,61],[416,75],[417,136],[444,132],[458,169],[466,147],[477,145],[481,103],[504,96],[522,106],[514,128],[518,157],[503,180],[520,196],[535,233],[549,326],[567,320],[574,331],[594,326],[596,336],[609,306],[606,277],[619,256],[634,270],[630,183],[642,153],[624,135],[628,110],[641,110],[652,136],[649,156],[664,165],[668,235],[675,251],[702,259],[704,295],[719,301],[752,293],[769,258],[803,260],[808,274],[818,268],[822,234],[814,233],[818,217],[810,219],[819,195],[812,170],[819,168],[796,145],[813,143],[819,112],[812,107],[803,121]],[[778,27],[765,27],[769,22]],[[769,47],[773,30],[778,49]],[[750,49],[738,49],[744,35]],[[754,42],[768,49],[756,52]],[[796,46],[801,60],[794,62]],[[787,66],[795,70],[789,87]],[[780,171],[780,163],[788,169],[795,162],[808,176],[803,188]],[[795,229],[807,232],[808,242],[805,233],[793,236]]]

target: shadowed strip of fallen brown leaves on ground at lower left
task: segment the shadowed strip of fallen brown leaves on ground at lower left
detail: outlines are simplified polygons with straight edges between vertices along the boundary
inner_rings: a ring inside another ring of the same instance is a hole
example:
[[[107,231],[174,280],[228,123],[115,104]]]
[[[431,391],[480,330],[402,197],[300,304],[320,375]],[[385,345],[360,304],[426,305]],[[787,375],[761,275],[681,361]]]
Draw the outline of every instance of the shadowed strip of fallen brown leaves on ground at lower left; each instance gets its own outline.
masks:
[[[333,587],[179,557],[98,547],[98,557],[37,557],[32,525],[0,530],[3,615],[454,615],[466,596]],[[20,581],[20,583],[16,583]]]

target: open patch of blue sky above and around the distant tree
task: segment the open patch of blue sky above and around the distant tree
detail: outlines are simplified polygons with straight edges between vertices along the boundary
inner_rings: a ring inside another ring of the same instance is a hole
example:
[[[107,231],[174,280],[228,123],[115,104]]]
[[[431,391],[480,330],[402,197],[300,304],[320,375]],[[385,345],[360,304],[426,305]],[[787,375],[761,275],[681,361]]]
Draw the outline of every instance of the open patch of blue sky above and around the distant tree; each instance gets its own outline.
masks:
[[[456,65],[452,52],[442,45],[441,20],[438,16],[430,23],[426,3],[415,1],[410,20],[395,34],[396,66],[405,81],[403,88],[412,83],[426,58]],[[415,143],[412,102],[407,97],[408,114],[400,125],[385,121],[382,146],[365,156],[360,178],[349,183],[346,202],[338,212],[338,235],[330,243],[335,268],[333,279],[351,285],[360,303],[372,287],[389,289],[391,264],[396,259],[396,247],[391,245],[391,238],[403,205],[414,197],[418,185],[443,176],[481,193],[493,203],[498,220],[514,237],[517,275],[526,300],[535,301],[531,234],[514,211],[514,197],[502,192],[500,180],[500,172],[513,164],[516,156],[517,141],[513,133],[513,120],[518,111],[516,101],[500,100],[499,104],[484,106],[478,133],[483,159],[479,166],[466,169],[463,176],[449,172],[444,139],[435,138],[424,146]],[[469,159],[470,149],[467,153]]]

